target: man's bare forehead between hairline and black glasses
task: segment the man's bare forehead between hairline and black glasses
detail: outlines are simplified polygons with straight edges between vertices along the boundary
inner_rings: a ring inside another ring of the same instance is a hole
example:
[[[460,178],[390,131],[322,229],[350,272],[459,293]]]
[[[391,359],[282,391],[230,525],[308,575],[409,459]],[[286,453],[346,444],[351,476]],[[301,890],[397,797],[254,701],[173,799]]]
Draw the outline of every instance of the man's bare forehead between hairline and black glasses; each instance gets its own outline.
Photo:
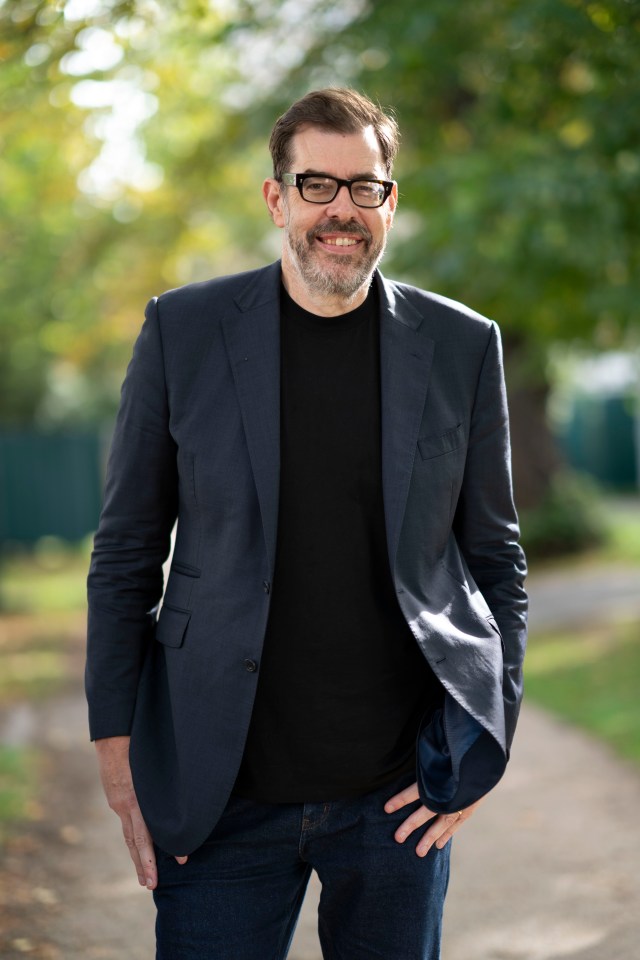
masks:
[[[384,170],[382,150],[372,126],[355,133],[341,133],[308,124],[296,131],[291,146],[296,173],[324,169],[329,160],[350,164],[357,172],[373,171],[374,167]]]

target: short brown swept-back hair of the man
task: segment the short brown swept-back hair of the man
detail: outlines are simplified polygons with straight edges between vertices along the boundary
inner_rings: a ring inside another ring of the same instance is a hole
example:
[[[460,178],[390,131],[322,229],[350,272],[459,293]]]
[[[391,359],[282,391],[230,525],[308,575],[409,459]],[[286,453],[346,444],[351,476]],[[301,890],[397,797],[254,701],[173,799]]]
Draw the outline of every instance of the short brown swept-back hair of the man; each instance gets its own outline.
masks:
[[[289,170],[293,162],[293,137],[308,124],[337,133],[358,133],[365,127],[373,127],[387,176],[391,176],[400,139],[396,121],[355,90],[328,87],[325,90],[312,90],[296,100],[276,121],[269,140],[276,180]]]

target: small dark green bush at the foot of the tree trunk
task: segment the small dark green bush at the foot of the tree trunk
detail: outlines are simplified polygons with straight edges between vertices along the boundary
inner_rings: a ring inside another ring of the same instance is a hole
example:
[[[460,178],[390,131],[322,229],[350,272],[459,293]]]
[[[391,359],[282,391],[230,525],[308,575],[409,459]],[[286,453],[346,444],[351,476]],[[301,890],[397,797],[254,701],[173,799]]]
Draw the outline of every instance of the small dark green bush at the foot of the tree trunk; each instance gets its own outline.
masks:
[[[607,518],[601,494],[587,477],[559,472],[537,507],[520,515],[522,545],[530,559],[577,553],[602,545]]]

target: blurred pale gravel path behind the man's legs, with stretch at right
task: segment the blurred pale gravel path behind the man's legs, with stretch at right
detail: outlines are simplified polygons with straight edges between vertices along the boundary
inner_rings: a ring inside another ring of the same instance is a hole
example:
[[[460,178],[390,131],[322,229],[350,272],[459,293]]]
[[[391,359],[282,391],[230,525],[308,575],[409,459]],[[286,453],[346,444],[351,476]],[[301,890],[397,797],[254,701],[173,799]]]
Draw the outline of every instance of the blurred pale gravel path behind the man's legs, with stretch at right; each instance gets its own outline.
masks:
[[[530,590],[535,629],[640,614],[640,571],[552,573]],[[153,903],[104,804],[83,698],[14,711],[0,733],[45,747],[48,785],[3,864],[0,957],[151,960]],[[635,769],[526,705],[507,775],[456,838],[443,960],[638,960],[639,805]],[[317,896],[312,884],[289,960],[320,960]]]

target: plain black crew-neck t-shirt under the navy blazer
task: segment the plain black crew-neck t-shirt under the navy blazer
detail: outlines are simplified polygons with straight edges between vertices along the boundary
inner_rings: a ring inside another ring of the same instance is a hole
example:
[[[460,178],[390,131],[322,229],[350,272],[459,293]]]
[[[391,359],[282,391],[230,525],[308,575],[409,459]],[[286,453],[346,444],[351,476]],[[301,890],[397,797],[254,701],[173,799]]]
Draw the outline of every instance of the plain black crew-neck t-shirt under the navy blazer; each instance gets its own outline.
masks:
[[[311,803],[412,769],[441,694],[389,572],[374,287],[339,317],[282,290],[280,417],[276,569],[235,792]]]

